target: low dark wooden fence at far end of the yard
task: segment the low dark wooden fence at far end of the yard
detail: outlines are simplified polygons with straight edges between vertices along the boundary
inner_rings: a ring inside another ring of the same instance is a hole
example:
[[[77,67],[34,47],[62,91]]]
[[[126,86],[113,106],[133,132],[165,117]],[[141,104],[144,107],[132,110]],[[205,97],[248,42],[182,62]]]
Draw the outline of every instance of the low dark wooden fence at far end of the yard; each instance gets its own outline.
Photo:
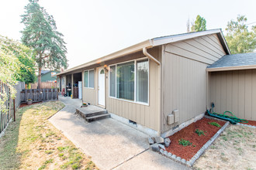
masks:
[[[29,89],[22,90],[20,92],[20,98],[22,102],[26,102],[31,99],[33,102],[45,101],[45,100],[58,100],[58,90],[55,89]]]

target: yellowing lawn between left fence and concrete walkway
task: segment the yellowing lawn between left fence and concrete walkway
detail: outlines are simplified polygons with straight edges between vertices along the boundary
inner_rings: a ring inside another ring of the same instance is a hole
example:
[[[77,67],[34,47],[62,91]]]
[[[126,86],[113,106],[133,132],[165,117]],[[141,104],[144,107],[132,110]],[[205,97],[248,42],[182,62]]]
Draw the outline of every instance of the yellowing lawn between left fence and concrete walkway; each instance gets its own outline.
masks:
[[[97,169],[48,121],[63,107],[50,101],[19,108],[0,138],[0,169]]]

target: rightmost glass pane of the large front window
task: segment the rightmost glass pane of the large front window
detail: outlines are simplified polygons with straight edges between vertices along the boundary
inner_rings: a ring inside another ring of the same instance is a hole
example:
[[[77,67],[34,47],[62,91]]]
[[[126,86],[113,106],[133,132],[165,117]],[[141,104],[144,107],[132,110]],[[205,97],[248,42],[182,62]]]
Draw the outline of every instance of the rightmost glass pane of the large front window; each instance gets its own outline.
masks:
[[[137,94],[139,102],[147,103],[148,95],[148,60],[137,61]]]

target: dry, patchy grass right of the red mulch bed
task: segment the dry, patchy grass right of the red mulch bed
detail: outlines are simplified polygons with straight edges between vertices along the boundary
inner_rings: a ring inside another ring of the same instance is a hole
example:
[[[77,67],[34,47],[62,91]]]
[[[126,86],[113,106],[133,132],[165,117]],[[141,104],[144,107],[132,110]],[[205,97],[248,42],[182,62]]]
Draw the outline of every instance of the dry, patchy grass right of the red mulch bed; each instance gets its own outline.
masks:
[[[255,169],[256,129],[230,125],[196,160],[194,169]]]

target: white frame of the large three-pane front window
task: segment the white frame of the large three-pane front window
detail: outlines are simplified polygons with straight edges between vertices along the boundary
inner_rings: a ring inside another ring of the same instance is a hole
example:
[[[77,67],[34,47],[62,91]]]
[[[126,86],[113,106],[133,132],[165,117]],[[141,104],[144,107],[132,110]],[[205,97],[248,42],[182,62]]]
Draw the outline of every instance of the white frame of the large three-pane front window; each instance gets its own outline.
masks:
[[[137,101],[137,61],[146,60],[146,59],[147,59],[147,62],[148,62],[147,103],[144,103],[144,102],[141,102],[141,101]],[[149,93],[149,90],[150,90],[150,59],[148,59],[147,57],[142,57],[140,59],[130,59],[130,60],[127,60],[125,62],[110,64],[109,65],[109,70],[110,70],[110,66],[116,66],[116,73],[117,73],[117,65],[118,64],[129,63],[129,62],[132,62],[132,61],[134,62],[133,63],[134,64],[134,100],[126,100],[126,99],[120,99],[120,98],[117,98],[117,97],[110,96],[110,71],[109,71],[109,95],[108,96],[109,96],[109,98],[116,99],[116,100],[122,100],[122,101],[130,102],[130,103],[133,103],[133,104],[142,104],[142,105],[149,106],[149,103],[150,103],[150,93]],[[117,81],[117,79],[116,79],[116,81]],[[117,86],[116,86],[116,89],[117,89]],[[117,90],[116,90],[116,92],[117,92]],[[116,93],[116,96],[117,96],[117,93]]]

